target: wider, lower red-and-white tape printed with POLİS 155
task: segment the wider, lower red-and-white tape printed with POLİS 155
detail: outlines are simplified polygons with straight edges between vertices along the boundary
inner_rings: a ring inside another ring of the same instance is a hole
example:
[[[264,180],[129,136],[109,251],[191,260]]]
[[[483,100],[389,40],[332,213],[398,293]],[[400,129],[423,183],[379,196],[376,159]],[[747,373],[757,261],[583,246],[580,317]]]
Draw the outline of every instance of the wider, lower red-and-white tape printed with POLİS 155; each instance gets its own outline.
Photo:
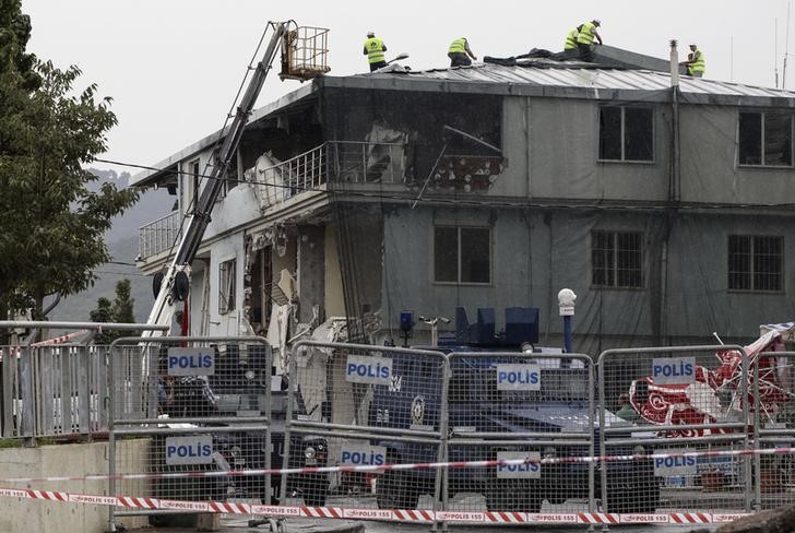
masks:
[[[673,512],[519,512],[519,511],[432,511],[426,509],[359,509],[345,507],[263,506],[233,501],[188,501],[135,496],[98,496],[57,490],[1,488],[0,497],[84,504],[141,510],[195,511],[221,514],[250,514],[282,518],[316,518],[390,522],[460,523],[550,523],[550,524],[709,524],[733,522],[749,513]]]

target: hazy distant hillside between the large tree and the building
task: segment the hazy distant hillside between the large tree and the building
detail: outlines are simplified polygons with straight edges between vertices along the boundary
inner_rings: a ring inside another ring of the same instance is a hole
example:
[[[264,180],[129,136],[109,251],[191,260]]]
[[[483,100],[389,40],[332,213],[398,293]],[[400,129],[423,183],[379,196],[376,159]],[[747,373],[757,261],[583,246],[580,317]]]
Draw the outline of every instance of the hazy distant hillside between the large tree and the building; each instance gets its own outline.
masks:
[[[99,179],[92,183],[92,189],[98,188],[104,181],[115,182],[117,187],[127,187],[130,175],[117,175],[114,170],[92,171]],[[151,190],[141,194],[141,199],[123,215],[112,221],[112,227],[105,234],[105,242],[110,250],[112,263],[106,263],[95,273],[98,280],[93,287],[80,294],[62,299],[49,315],[50,320],[87,321],[88,313],[96,307],[99,297],[112,300],[116,297],[116,283],[124,277],[130,280],[132,298],[134,298],[134,312],[138,322],[145,322],[154,304],[152,295],[152,279],[142,275],[134,266],[138,256],[138,230],[166,213],[170,212],[175,197],[168,196],[165,190]],[[118,264],[124,263],[124,264]]]

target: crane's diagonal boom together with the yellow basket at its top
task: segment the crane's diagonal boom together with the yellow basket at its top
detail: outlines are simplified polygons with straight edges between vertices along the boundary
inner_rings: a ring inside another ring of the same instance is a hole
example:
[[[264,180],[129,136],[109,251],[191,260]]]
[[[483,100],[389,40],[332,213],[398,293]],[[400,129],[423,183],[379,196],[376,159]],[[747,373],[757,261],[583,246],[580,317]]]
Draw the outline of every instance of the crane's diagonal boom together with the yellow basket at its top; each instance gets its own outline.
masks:
[[[325,28],[296,26],[294,21],[269,22],[268,29],[273,34],[262,59],[253,69],[246,92],[240,99],[226,135],[213,154],[212,171],[206,176],[206,185],[181,232],[181,240],[165,275],[159,280],[159,289],[146,321],[150,325],[170,325],[178,301],[185,301],[190,291],[190,264],[195,258],[204,230],[210,223],[210,213],[223,189],[224,176],[235,157],[248,117],[253,109],[262,84],[268,76],[276,49],[282,50],[282,72],[280,78],[311,80],[329,71],[328,33]],[[266,31],[268,31],[266,29]],[[157,286],[157,281],[155,282]],[[146,336],[159,335],[159,330],[144,332]]]

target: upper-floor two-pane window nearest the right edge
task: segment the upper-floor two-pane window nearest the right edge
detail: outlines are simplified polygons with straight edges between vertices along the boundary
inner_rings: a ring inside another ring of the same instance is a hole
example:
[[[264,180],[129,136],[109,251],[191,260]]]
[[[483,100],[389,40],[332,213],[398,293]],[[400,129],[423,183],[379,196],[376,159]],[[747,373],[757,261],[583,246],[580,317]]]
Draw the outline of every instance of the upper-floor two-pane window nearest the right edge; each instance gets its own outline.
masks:
[[[792,115],[739,114],[740,165],[792,166]]]

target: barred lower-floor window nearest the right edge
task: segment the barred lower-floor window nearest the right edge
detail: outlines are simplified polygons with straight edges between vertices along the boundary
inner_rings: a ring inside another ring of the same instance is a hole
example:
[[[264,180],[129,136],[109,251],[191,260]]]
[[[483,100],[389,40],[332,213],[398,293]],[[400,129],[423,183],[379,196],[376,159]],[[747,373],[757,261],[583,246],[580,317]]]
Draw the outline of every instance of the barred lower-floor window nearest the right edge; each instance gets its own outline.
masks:
[[[784,237],[729,235],[729,291],[782,291]]]

